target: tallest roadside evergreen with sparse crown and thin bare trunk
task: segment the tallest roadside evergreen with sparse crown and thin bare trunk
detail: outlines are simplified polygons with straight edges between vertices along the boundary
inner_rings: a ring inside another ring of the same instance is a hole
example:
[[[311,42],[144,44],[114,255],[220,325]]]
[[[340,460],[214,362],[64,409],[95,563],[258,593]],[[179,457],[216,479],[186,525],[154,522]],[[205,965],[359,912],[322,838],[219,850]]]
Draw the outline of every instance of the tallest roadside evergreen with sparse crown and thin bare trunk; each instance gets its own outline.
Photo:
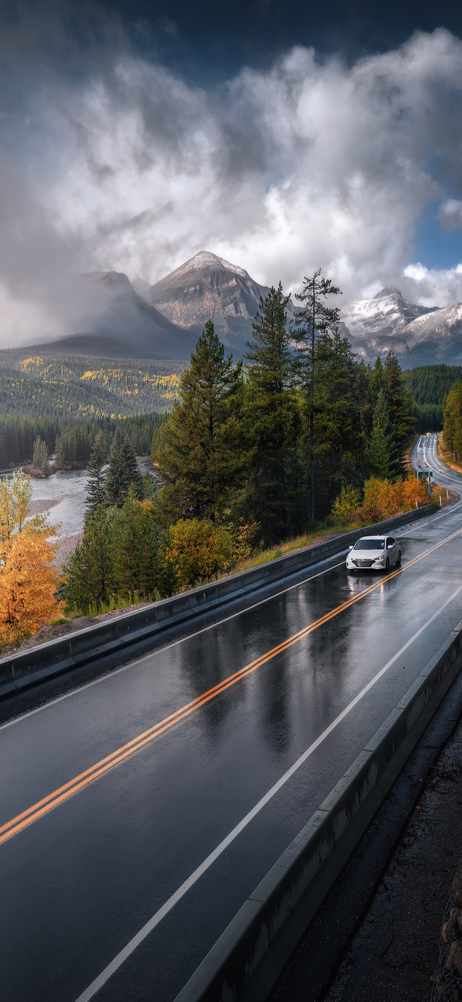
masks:
[[[341,296],[340,289],[330,279],[321,277],[318,268],[312,276],[305,276],[303,290],[295,298],[304,306],[295,315],[297,340],[300,346],[302,381],[307,393],[308,404],[308,509],[314,519],[314,377],[316,335],[322,331],[336,331],[340,323],[340,311],[327,307],[328,296]]]

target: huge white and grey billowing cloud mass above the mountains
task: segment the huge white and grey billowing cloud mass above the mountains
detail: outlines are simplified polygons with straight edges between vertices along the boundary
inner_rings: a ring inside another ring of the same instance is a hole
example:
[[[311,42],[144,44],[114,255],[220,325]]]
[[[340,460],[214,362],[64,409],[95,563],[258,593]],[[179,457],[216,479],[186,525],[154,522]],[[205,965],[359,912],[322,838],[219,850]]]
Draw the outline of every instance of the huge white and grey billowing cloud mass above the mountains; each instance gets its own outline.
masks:
[[[200,249],[292,293],[321,266],[345,303],[393,284],[445,305],[460,288],[457,269],[406,268],[425,206],[442,201],[453,225],[462,204],[445,200],[462,42],[444,29],[352,67],[297,47],[210,93],[114,48],[84,82],[47,76],[27,110],[6,129],[11,174],[23,160],[13,196],[0,193],[0,281],[36,296],[50,325],[75,323],[64,275],[154,282]]]

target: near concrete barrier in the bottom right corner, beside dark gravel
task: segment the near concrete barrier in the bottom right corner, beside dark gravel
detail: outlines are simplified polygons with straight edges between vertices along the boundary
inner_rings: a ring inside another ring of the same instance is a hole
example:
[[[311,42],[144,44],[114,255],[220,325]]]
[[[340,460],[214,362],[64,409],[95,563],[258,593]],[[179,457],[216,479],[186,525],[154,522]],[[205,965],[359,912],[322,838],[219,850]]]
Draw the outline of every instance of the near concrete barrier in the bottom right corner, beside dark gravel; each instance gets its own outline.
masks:
[[[175,1002],[263,1002],[462,667],[462,620]]]

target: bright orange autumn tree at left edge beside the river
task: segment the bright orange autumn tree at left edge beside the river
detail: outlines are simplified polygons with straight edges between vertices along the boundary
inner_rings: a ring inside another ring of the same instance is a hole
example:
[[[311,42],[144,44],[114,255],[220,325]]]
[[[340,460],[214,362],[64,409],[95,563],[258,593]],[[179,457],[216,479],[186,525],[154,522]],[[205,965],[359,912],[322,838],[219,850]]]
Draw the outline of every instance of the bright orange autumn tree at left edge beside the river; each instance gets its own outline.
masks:
[[[48,512],[26,521],[32,488],[22,471],[0,481],[0,643],[30,636],[61,611]]]

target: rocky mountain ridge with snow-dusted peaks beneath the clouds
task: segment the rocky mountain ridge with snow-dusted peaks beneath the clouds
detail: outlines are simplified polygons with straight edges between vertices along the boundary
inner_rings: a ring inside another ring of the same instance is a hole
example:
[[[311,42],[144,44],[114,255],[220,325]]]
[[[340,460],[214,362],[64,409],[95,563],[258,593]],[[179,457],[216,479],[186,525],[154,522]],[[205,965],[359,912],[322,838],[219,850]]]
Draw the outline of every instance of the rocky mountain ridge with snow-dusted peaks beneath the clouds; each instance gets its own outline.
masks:
[[[252,321],[267,286],[245,269],[201,250],[150,286],[139,277],[130,283],[120,272],[91,272],[81,277],[82,318],[64,339],[77,338],[79,351],[96,344],[127,355],[189,359],[204,325],[215,330],[236,358],[245,354]],[[289,303],[288,319],[294,306]],[[462,361],[462,304],[440,308],[409,303],[395,287],[341,310],[341,331],[366,361],[392,349],[404,368]],[[77,350],[77,342],[75,350]],[[61,342],[50,343],[58,346]],[[81,346],[81,347],[80,347]],[[103,350],[103,349],[102,349]]]

